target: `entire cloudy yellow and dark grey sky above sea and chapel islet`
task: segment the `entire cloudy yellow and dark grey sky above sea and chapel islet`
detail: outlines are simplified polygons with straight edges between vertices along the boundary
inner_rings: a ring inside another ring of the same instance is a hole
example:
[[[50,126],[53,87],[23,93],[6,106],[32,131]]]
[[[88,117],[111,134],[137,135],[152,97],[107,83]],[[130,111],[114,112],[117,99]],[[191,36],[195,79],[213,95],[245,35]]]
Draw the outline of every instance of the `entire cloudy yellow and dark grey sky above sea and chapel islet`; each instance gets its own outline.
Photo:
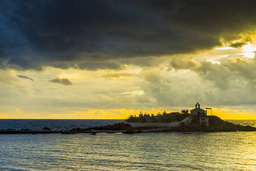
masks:
[[[254,1],[0,1],[0,117],[256,119]]]

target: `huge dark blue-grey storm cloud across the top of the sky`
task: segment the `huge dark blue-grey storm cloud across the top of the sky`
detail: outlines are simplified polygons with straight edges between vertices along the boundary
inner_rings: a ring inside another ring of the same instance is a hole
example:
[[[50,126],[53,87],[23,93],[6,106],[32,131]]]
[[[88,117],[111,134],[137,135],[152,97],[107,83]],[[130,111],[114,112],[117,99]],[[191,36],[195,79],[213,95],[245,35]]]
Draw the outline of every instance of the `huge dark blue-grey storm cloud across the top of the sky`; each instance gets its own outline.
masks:
[[[1,1],[3,67],[84,70],[113,59],[185,54],[254,31],[254,1]],[[245,42],[233,44],[241,47]],[[68,63],[72,63],[71,65]]]

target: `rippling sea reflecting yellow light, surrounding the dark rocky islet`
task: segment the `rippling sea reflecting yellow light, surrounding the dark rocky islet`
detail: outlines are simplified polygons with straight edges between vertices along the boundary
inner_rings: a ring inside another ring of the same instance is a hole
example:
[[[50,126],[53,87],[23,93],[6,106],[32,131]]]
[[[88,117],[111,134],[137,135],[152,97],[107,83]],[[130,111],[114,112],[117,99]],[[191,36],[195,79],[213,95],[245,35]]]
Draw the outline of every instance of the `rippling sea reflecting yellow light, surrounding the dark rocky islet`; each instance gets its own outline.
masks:
[[[2,119],[0,129],[68,130],[121,121]],[[0,135],[0,170],[256,170],[256,132]]]

